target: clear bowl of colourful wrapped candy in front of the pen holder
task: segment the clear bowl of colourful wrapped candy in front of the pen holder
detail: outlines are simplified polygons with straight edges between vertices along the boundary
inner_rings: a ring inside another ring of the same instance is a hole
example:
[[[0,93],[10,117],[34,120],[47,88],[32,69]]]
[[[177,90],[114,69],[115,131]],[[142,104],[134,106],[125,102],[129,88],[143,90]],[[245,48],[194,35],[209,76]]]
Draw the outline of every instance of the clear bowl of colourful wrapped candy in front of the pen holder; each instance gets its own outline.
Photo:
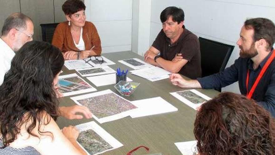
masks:
[[[139,83],[119,81],[114,87],[121,95],[130,96],[137,89]]]

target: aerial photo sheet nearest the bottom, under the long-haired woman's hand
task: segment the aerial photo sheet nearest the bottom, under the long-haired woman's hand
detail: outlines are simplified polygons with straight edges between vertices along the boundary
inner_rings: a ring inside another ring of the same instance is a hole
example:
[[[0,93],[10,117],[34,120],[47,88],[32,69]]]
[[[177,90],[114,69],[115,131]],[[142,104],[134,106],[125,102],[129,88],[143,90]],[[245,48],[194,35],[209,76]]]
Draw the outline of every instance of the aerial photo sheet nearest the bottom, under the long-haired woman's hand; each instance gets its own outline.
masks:
[[[97,155],[123,146],[94,121],[76,127],[79,130],[77,142],[90,155]]]

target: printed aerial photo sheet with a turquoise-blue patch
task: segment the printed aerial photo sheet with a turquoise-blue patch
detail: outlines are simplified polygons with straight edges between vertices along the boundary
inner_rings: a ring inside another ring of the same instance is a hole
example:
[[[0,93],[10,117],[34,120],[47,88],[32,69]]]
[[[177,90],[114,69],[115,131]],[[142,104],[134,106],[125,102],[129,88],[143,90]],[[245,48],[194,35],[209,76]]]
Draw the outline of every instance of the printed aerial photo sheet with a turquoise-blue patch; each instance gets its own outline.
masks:
[[[75,73],[59,76],[58,87],[58,90],[63,94],[63,96],[96,91],[94,87],[89,85],[86,81],[84,81]]]

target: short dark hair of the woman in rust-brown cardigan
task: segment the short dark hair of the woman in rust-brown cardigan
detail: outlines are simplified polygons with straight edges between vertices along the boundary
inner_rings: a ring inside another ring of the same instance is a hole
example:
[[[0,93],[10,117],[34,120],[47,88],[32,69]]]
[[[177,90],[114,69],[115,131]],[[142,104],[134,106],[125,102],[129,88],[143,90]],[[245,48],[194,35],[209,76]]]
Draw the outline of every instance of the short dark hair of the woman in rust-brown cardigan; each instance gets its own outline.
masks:
[[[85,10],[86,6],[81,0],[67,0],[62,5],[62,10],[65,15],[72,15],[78,11]]]

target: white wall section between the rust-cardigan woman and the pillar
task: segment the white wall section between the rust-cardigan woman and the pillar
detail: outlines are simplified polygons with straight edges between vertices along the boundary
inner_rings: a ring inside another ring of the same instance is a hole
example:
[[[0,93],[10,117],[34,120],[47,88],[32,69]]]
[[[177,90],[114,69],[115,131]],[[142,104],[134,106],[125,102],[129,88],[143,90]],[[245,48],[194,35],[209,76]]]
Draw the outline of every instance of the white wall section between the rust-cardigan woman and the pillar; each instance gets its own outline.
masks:
[[[87,21],[95,24],[102,53],[130,51],[132,0],[85,0]]]

